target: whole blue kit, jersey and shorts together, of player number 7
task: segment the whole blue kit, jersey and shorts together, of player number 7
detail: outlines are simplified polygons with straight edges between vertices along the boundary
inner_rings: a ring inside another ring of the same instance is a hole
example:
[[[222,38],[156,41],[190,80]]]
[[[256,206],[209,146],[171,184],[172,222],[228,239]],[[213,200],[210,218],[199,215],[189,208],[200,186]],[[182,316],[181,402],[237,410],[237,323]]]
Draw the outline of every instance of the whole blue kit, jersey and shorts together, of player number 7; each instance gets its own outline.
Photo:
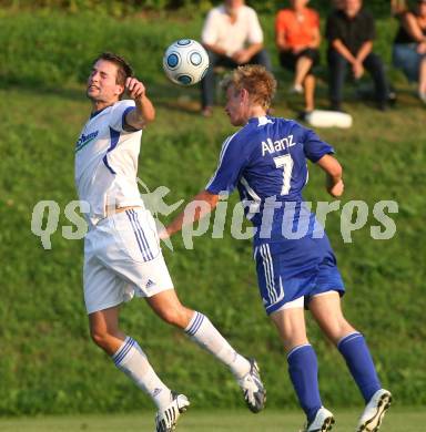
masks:
[[[239,188],[257,228],[254,259],[267,313],[302,296],[344,292],[328,238],[302,197],[307,160],[315,163],[331,153],[333,147],[313,131],[271,116],[251,119],[223,143],[206,191],[217,195]]]

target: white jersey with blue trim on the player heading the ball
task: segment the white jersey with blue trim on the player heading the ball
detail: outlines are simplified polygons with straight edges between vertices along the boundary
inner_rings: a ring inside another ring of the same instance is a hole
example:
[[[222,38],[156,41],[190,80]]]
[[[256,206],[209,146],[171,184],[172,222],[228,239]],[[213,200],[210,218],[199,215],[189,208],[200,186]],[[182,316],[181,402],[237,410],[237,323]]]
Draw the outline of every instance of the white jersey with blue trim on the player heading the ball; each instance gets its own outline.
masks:
[[[106,206],[143,206],[136,183],[142,131],[124,130],[131,110],[133,101],[119,101],[92,114],[75,144],[75,186],[93,225]]]

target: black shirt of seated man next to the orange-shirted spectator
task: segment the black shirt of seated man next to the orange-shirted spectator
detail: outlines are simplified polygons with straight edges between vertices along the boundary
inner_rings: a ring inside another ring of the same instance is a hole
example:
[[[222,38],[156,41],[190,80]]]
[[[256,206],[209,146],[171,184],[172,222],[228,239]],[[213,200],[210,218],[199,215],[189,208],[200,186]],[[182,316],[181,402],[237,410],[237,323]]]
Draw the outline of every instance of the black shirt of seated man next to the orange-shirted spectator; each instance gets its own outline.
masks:
[[[338,10],[332,13],[326,23],[325,35],[328,42],[339,39],[356,55],[361,47],[376,37],[373,16],[362,9],[354,18]]]

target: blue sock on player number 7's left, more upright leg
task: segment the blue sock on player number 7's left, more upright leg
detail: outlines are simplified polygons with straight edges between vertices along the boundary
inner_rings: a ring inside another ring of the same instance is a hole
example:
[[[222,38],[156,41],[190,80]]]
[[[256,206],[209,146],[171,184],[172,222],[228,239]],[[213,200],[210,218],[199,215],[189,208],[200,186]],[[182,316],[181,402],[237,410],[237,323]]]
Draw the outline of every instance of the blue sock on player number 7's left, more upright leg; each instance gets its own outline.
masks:
[[[322,407],[315,351],[311,344],[293,348],[287,356],[287,362],[290,378],[298,402],[306,413],[307,421],[311,422]]]

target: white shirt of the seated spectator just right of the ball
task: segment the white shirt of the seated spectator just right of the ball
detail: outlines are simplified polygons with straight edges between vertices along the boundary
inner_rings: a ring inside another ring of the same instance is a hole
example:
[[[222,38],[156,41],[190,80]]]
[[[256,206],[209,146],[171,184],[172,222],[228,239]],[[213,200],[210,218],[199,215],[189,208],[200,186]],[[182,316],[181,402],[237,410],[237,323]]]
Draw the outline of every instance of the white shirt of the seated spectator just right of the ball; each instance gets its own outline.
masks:
[[[263,43],[263,32],[257,14],[252,8],[240,7],[236,21],[231,23],[225,7],[220,6],[209,12],[201,40],[209,45],[219,45],[226,51],[226,55],[231,56],[245,44]]]

